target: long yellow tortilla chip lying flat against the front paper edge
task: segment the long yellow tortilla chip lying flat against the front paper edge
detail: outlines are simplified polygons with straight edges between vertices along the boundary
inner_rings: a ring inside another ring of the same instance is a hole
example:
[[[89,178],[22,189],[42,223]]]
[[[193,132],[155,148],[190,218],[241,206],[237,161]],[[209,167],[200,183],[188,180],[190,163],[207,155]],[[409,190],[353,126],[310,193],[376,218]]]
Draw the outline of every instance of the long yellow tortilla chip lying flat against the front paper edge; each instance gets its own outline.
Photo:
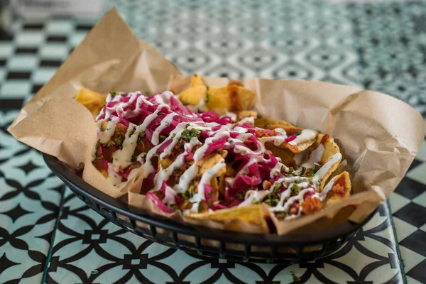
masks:
[[[243,207],[232,207],[229,209],[219,209],[209,213],[193,213],[187,217],[192,219],[209,219],[224,223],[226,229],[231,231],[239,231],[234,226],[236,220],[247,222],[256,226],[260,226],[268,231],[268,224],[265,217],[268,215],[268,206],[266,204],[254,204]]]

